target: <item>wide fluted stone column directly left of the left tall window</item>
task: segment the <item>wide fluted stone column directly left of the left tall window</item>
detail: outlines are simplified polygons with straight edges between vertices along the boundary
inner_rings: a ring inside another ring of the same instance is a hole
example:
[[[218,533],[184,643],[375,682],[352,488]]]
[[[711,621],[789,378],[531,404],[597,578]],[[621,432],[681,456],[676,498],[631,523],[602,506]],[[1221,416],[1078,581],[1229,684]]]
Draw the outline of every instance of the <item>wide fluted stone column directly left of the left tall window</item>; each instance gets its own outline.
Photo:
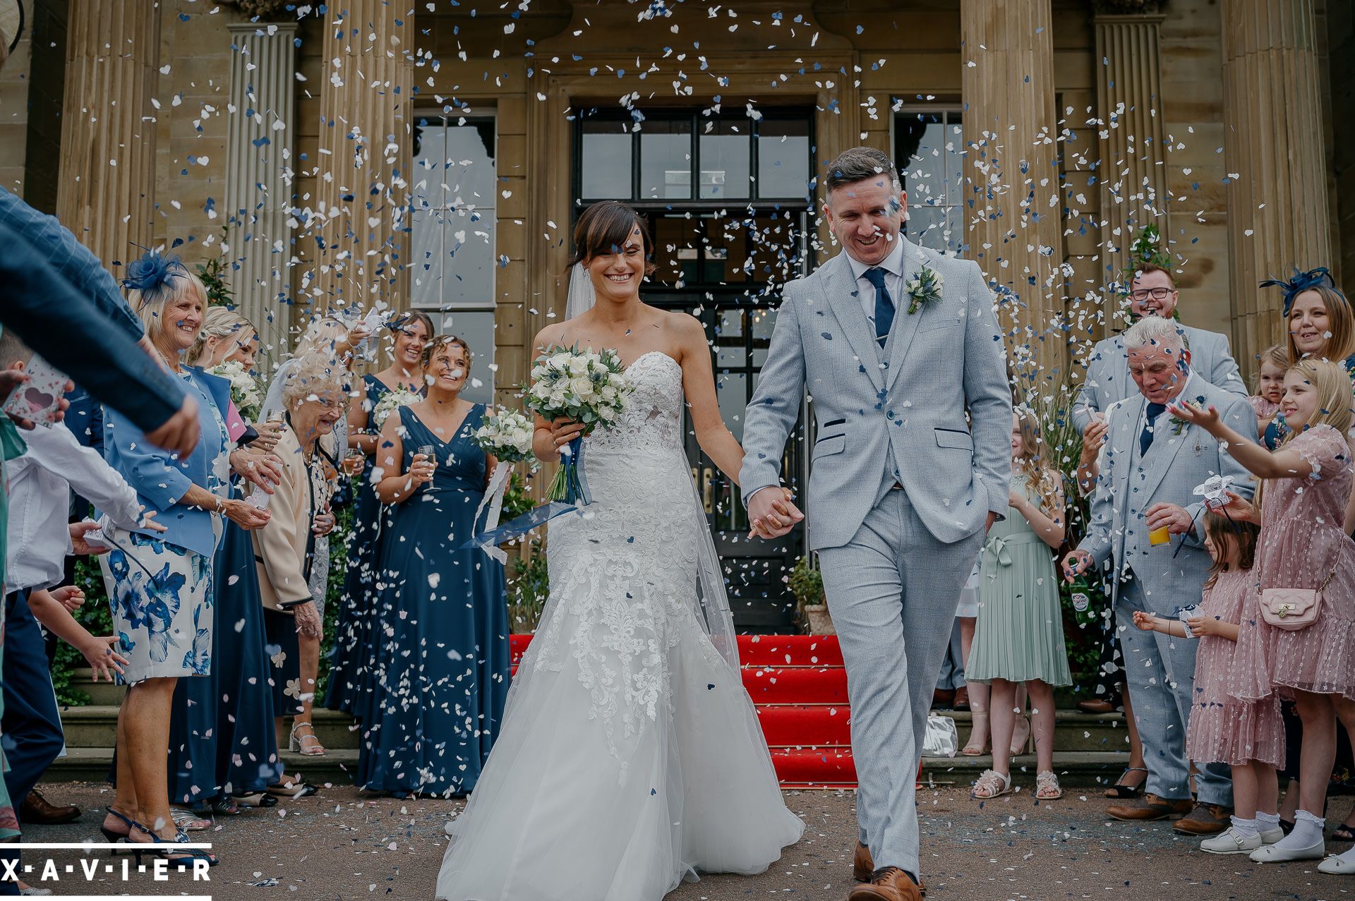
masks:
[[[298,302],[408,306],[409,64],[413,11],[339,0],[325,14],[317,205]],[[317,244],[318,240],[318,244]]]

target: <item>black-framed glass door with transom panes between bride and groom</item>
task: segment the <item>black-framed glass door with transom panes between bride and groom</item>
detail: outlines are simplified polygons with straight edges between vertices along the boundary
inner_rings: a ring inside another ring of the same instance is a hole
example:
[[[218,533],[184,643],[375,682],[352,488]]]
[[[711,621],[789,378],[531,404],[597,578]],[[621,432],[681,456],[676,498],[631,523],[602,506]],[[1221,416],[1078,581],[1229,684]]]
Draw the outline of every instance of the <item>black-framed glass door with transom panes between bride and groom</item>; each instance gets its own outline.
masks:
[[[741,443],[780,287],[810,264],[812,111],[714,121],[665,111],[640,122],[637,129],[631,118],[580,117],[576,214],[592,201],[623,199],[646,215],[656,270],[641,294],[705,325],[721,416]],[[782,457],[797,495],[808,478],[805,421],[802,415]],[[737,486],[701,451],[690,421],[683,434],[734,625],[791,631],[786,577],[805,553],[804,526],[778,541],[749,539]]]

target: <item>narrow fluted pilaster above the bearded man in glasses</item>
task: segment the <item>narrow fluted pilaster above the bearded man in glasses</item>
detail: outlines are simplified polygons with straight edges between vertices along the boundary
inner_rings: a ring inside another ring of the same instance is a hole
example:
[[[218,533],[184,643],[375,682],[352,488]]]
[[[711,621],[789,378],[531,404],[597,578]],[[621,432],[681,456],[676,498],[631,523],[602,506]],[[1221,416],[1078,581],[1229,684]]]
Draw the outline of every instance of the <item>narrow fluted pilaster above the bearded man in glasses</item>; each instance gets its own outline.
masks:
[[[1145,225],[1168,234],[1165,126],[1160,27],[1148,12],[1103,15],[1096,24],[1096,117],[1100,131],[1102,263],[1107,283],[1129,264],[1129,245]]]

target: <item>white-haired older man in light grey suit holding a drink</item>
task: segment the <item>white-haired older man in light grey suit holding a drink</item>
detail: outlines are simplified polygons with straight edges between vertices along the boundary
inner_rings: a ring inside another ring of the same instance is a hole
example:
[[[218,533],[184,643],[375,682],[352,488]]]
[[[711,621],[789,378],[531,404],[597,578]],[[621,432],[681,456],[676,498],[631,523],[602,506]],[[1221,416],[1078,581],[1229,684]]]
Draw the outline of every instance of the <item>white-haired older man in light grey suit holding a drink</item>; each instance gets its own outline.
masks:
[[[1203,428],[1173,419],[1171,402],[1213,404],[1243,435],[1256,435],[1256,413],[1245,397],[1230,394],[1192,371],[1184,329],[1169,318],[1146,317],[1125,333],[1129,374],[1138,394],[1107,411],[1100,477],[1091,524],[1077,550],[1064,558],[1072,577],[1091,565],[1114,561],[1111,606],[1125,653],[1125,676],[1148,760],[1146,794],[1107,810],[1119,820],[1167,820],[1187,814],[1179,832],[1211,835],[1228,825],[1233,803],[1229,768],[1199,764],[1191,805],[1186,726],[1194,696],[1194,640],[1140,631],[1135,610],[1175,618],[1201,600],[1209,574],[1203,499],[1195,486],[1211,476],[1234,480],[1233,490],[1251,496],[1252,482]],[[1172,542],[1169,535],[1180,535]]]

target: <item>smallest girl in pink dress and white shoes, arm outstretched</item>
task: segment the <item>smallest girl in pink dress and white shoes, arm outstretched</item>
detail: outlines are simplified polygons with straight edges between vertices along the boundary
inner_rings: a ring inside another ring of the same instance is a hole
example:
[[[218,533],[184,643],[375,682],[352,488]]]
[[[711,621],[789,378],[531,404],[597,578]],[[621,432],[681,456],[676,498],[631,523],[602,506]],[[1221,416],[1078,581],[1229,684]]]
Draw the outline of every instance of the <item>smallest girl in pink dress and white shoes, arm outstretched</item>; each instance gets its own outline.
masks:
[[[1145,631],[1199,638],[1186,756],[1199,763],[1217,760],[1233,768],[1233,825],[1201,841],[1201,851],[1210,854],[1249,854],[1285,836],[1279,828],[1275,775],[1275,770],[1285,766],[1279,698],[1272,694],[1264,700],[1247,702],[1229,694],[1238,623],[1255,623],[1260,618],[1252,573],[1256,535],[1255,523],[1234,523],[1220,514],[1205,514],[1205,547],[1214,565],[1198,614],[1183,623],[1134,611],[1134,625]]]

